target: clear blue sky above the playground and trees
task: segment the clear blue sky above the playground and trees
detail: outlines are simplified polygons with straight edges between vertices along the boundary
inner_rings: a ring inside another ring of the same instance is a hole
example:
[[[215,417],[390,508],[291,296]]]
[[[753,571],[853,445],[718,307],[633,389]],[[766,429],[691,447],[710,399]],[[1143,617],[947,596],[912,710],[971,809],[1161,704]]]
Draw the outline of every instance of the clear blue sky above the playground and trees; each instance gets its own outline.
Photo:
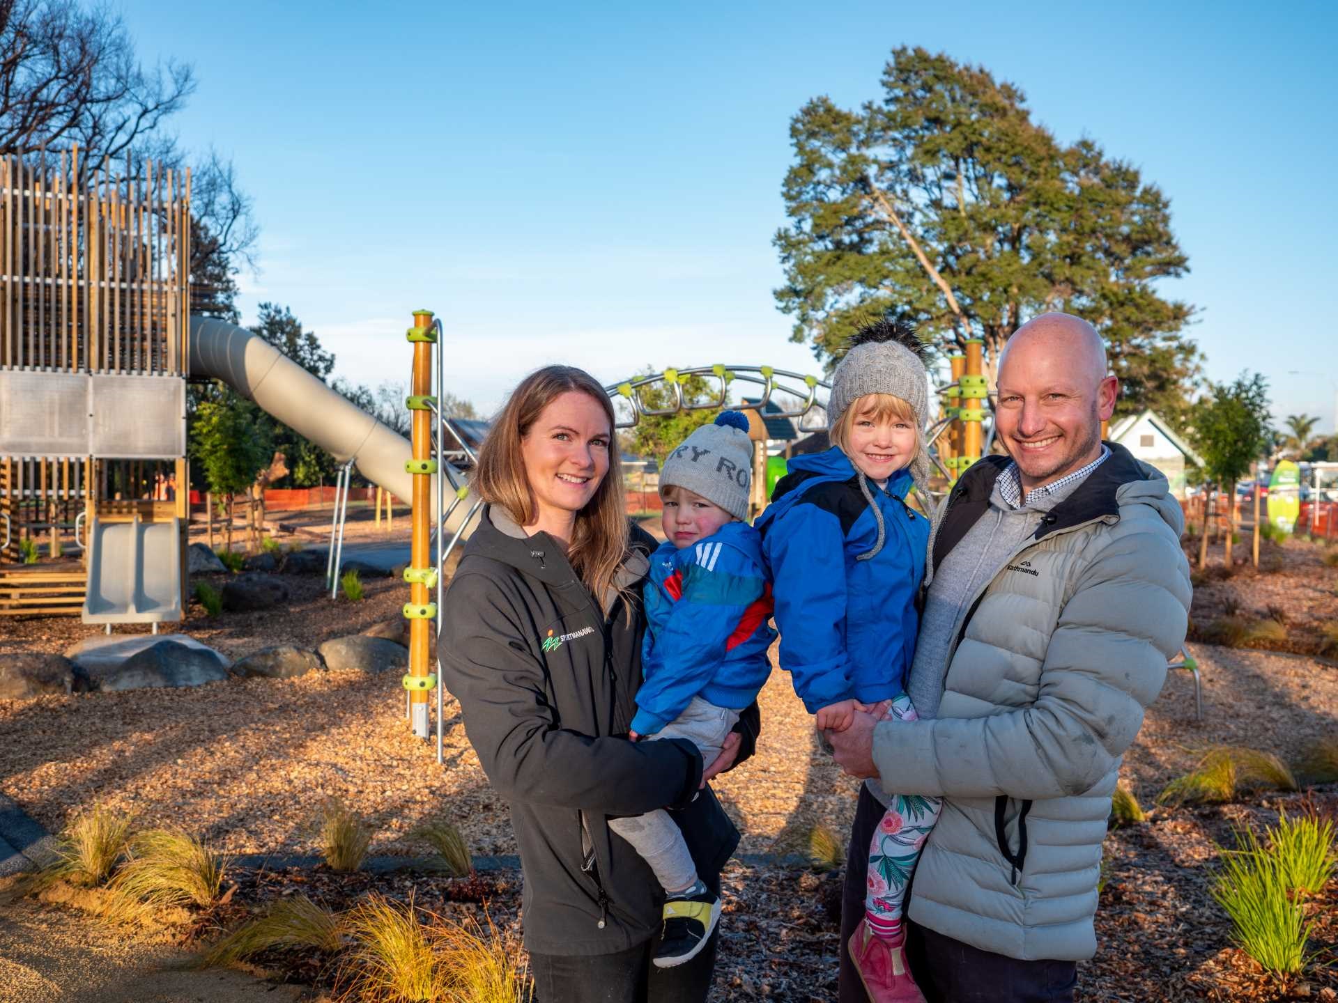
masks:
[[[610,382],[816,372],[771,294],[788,122],[819,94],[874,96],[913,44],[1013,80],[1061,139],[1161,185],[1192,269],[1168,292],[1202,308],[1208,376],[1258,369],[1276,413],[1334,425],[1333,4],[120,9],[146,59],[194,63],[178,132],[254,197],[244,322],[289,305],[351,380],[407,377],[417,306],[447,324],[450,388],[486,408],[549,361]]]

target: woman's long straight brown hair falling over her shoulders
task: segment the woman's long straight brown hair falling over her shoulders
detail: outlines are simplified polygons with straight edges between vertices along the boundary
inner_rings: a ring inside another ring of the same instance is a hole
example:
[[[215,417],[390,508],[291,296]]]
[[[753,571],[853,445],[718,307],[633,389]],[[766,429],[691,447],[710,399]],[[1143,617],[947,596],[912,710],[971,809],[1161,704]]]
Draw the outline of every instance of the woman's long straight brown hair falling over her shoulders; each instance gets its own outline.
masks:
[[[538,503],[524,473],[520,441],[543,409],[570,391],[597,401],[609,419],[609,472],[595,488],[594,497],[577,512],[567,550],[571,567],[594,594],[595,602],[603,603],[606,592],[615,588],[614,579],[628,555],[628,514],[618,439],[613,431],[613,404],[590,373],[570,365],[546,365],[524,377],[494,419],[479,448],[472,485],[479,497],[490,506],[499,506],[516,524],[533,524],[538,518]]]

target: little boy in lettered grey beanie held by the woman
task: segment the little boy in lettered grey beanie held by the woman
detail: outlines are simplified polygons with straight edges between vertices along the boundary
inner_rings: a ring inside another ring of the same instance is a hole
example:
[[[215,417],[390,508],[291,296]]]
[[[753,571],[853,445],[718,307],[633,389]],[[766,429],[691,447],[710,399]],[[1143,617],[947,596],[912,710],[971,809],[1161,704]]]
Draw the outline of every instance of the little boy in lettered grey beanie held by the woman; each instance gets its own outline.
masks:
[[[688,436],[660,472],[669,539],[650,556],[645,681],[630,738],[688,738],[708,766],[771,673],[771,586],[761,540],[744,522],[751,479],[748,419],[737,411]],[[720,899],[697,877],[678,826],[656,810],[610,818],[609,828],[665,889],[654,963],[668,968],[694,958],[716,928]]]

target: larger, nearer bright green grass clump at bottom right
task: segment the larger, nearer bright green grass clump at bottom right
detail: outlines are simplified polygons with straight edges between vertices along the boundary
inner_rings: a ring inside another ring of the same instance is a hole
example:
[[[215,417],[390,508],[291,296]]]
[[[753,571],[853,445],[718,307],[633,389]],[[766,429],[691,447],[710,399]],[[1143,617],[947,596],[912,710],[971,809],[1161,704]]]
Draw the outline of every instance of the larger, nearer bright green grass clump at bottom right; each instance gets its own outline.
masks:
[[[1252,833],[1238,839],[1244,845],[1222,855],[1212,897],[1231,917],[1235,940],[1246,954],[1271,972],[1299,972],[1311,929],[1305,911],[1288,897],[1278,857],[1259,849]]]

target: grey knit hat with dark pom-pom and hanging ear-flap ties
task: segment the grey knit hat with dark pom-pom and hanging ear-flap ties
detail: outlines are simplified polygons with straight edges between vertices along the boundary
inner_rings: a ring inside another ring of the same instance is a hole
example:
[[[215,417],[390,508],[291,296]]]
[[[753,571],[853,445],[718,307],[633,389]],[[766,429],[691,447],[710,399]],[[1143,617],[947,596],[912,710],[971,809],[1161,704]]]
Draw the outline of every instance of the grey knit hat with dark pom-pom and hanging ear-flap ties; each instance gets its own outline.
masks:
[[[929,417],[929,374],[921,360],[922,350],[923,342],[909,324],[879,321],[862,328],[851,338],[850,350],[832,373],[832,391],[827,399],[827,428],[835,428],[840,416],[860,397],[870,393],[890,393],[911,405],[915,425],[923,432]],[[929,456],[923,451],[911,460],[910,471],[915,487],[927,491],[930,465]],[[874,504],[863,472],[859,473],[859,487],[878,520],[878,543],[868,554],[856,558],[868,560],[883,548],[883,516]]]

